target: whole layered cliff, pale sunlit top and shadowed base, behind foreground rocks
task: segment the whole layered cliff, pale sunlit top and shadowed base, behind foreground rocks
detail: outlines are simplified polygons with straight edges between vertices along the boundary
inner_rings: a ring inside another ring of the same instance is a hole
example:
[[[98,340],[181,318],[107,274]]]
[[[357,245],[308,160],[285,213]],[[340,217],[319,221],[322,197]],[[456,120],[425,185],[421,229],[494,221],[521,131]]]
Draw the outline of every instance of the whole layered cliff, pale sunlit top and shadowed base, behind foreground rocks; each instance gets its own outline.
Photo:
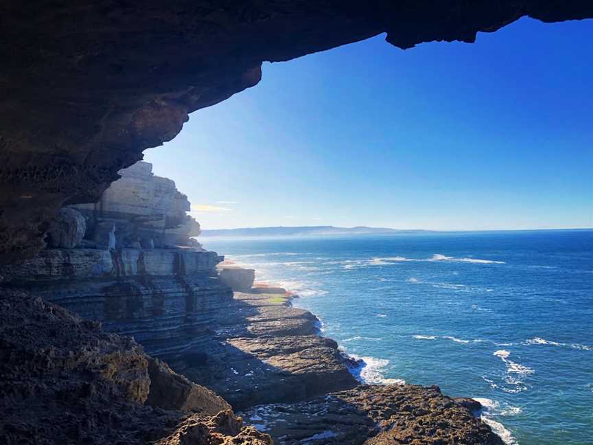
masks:
[[[191,242],[199,224],[174,181],[154,176],[146,162],[120,173],[95,205],[60,211],[48,233],[54,248],[5,265],[0,275],[5,286],[134,336],[183,369],[232,300],[216,272],[223,258]]]

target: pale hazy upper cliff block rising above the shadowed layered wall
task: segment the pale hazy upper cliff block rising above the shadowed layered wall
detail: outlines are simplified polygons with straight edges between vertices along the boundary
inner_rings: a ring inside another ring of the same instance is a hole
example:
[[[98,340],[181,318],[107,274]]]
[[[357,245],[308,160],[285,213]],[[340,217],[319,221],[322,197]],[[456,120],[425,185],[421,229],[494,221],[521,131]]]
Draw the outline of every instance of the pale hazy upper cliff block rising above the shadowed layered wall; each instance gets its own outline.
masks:
[[[187,196],[171,179],[154,176],[151,163],[137,162],[119,174],[97,203],[74,206],[89,219],[86,238],[105,248],[115,229],[115,247],[152,249],[187,246],[190,236],[200,234],[198,222],[186,214]]]

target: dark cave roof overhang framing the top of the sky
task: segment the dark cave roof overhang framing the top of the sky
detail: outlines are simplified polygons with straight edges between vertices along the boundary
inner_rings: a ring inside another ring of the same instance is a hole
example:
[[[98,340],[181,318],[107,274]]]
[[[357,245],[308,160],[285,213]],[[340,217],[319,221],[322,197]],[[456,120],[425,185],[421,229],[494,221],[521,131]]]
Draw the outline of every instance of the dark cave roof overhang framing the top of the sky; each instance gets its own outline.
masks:
[[[188,113],[253,87],[264,61],[386,32],[402,49],[473,42],[522,16],[593,17],[590,0],[5,0],[0,5],[0,261],[32,255],[62,205]]]

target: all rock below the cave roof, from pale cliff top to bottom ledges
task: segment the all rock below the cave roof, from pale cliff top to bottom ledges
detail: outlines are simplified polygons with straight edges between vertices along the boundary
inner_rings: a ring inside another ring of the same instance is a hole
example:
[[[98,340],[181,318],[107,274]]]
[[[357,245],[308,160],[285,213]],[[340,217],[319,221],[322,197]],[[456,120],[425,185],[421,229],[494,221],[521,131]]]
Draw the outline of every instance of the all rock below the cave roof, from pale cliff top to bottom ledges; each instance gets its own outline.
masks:
[[[97,205],[63,209],[51,248],[0,268],[0,437],[272,443],[232,407],[280,444],[500,444],[437,389],[360,387],[295,295],[187,246],[188,208],[139,163]]]

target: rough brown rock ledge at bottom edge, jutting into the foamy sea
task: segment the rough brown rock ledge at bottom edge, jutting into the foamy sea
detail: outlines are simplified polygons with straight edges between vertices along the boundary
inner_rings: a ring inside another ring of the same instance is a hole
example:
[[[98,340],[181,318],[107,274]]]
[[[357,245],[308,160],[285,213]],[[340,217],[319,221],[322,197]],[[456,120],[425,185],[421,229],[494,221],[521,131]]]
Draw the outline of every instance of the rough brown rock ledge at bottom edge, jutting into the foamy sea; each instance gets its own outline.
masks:
[[[276,444],[503,445],[438,387],[362,385],[295,404],[243,411]]]

